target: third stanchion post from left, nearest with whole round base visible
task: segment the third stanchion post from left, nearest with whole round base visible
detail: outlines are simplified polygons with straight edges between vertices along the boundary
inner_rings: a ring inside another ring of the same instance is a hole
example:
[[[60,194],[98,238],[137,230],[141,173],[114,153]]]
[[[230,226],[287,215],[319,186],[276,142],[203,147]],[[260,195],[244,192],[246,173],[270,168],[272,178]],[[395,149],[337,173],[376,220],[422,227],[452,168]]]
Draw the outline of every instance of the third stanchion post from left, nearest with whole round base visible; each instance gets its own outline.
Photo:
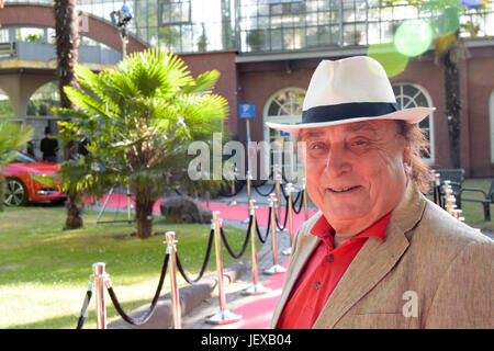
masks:
[[[234,314],[226,309],[226,297],[223,286],[223,261],[221,250],[221,233],[220,233],[220,211],[213,212],[212,228],[214,230],[214,246],[216,250],[216,271],[217,287],[220,297],[220,310],[213,316],[206,318],[206,322],[212,325],[227,325],[242,319],[242,315]]]

